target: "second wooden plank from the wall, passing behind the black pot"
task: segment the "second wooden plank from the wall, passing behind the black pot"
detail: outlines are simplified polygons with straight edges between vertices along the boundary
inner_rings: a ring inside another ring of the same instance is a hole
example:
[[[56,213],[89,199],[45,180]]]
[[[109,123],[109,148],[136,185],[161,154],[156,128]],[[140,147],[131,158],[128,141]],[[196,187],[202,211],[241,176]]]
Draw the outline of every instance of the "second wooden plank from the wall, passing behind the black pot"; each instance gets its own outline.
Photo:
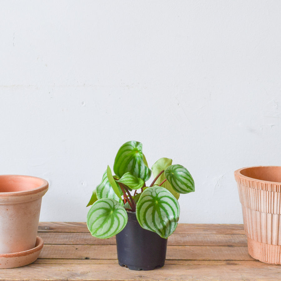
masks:
[[[98,239],[90,232],[40,232],[44,244],[115,245],[115,237]],[[168,245],[183,246],[247,246],[244,234],[172,234]]]

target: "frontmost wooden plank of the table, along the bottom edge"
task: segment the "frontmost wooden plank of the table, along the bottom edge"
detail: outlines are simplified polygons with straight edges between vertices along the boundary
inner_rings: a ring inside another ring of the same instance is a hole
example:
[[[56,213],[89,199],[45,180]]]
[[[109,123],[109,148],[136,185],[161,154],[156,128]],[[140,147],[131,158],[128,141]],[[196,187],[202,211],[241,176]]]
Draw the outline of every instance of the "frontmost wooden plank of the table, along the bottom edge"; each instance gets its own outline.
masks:
[[[17,269],[2,269],[0,280],[280,280],[280,274],[279,266],[266,264],[264,267],[167,264],[152,271],[133,271],[107,264],[68,264],[67,267],[62,264],[31,264]]]

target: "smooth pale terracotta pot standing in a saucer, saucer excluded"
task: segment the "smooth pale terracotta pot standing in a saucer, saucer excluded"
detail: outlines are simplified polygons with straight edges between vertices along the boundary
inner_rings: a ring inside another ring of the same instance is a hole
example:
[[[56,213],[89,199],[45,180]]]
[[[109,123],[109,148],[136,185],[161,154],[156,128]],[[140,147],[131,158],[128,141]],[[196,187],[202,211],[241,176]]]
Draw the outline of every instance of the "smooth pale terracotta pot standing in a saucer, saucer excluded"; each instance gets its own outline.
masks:
[[[0,175],[0,258],[35,248],[42,196],[47,190],[48,182],[41,178]],[[0,264],[0,268],[5,267]]]

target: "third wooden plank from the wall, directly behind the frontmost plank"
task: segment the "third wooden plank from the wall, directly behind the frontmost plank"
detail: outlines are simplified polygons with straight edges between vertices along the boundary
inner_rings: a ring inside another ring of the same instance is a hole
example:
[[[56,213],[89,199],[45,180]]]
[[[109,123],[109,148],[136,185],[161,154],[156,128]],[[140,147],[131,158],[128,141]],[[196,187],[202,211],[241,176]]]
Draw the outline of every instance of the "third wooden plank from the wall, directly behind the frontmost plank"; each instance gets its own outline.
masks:
[[[44,245],[42,259],[116,259],[115,245]],[[166,259],[252,260],[247,247],[167,246]]]

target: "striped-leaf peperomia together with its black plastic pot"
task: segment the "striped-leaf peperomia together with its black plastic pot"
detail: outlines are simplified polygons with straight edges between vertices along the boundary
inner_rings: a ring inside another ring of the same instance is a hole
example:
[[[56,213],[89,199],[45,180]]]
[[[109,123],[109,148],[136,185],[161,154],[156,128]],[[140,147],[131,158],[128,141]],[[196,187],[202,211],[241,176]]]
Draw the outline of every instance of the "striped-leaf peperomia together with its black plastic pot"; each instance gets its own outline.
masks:
[[[121,266],[151,270],[165,263],[167,238],[180,214],[180,193],[195,191],[190,172],[160,158],[148,167],[142,144],[128,141],[118,150],[112,175],[107,166],[87,206],[87,226],[97,238],[116,235]],[[146,181],[154,176],[149,186]]]

